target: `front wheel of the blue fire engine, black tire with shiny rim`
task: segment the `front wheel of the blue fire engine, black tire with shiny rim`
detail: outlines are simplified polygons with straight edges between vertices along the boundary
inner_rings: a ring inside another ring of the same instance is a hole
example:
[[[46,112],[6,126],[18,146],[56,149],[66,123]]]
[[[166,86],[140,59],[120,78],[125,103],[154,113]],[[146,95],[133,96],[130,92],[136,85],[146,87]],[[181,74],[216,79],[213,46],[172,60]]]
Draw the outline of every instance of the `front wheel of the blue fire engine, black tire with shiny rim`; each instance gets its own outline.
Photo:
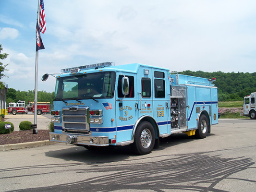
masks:
[[[138,155],[149,154],[155,145],[155,130],[151,123],[141,122],[134,135],[133,151]]]

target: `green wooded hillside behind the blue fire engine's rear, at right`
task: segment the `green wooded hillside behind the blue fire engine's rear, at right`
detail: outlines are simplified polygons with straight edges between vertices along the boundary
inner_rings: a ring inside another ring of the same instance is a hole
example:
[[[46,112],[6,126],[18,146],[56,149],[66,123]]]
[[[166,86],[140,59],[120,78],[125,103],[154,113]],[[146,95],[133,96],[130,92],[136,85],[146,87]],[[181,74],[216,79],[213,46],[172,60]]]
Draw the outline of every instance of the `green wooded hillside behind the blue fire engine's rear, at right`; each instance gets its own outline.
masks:
[[[244,96],[256,92],[256,72],[183,71],[179,73],[207,79],[215,77],[214,84],[218,87],[219,101],[239,101],[243,100]]]

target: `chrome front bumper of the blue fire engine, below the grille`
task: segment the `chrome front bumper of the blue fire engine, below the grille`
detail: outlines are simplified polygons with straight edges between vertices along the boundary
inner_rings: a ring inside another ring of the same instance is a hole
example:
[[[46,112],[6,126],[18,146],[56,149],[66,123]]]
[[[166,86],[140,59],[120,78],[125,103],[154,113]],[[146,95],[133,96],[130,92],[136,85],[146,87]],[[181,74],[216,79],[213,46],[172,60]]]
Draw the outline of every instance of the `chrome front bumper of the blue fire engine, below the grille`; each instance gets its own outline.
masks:
[[[63,142],[66,144],[108,146],[108,136],[92,136],[89,134],[67,134],[50,132],[50,141]]]

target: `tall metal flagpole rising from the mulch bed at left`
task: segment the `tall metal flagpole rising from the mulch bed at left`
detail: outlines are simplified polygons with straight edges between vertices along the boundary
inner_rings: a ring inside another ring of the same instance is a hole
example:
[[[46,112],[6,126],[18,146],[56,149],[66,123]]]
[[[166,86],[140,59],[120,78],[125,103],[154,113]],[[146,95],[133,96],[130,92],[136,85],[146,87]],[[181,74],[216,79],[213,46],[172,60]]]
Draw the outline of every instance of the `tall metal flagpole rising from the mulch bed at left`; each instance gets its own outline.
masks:
[[[38,8],[37,8],[37,23],[39,22],[39,7],[40,7],[40,0],[38,0]],[[40,33],[40,32],[38,32]],[[33,129],[33,133],[37,134],[37,79],[38,79],[38,50],[36,51],[36,67],[35,67],[35,110],[34,110],[34,128],[36,128],[36,131],[34,132],[35,129]]]

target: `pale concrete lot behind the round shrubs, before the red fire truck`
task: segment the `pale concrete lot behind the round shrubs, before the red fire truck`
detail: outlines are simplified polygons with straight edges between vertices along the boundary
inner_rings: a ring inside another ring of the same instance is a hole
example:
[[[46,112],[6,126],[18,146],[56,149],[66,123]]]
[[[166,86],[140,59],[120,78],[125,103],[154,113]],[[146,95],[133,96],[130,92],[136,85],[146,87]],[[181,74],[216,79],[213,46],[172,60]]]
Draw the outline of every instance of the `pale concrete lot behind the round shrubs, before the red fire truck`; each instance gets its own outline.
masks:
[[[37,115],[37,129],[47,130],[50,123],[51,115]],[[28,120],[34,124],[34,114],[8,114],[4,117],[5,121],[12,122],[14,125],[14,131],[19,131],[19,125],[21,121]]]

